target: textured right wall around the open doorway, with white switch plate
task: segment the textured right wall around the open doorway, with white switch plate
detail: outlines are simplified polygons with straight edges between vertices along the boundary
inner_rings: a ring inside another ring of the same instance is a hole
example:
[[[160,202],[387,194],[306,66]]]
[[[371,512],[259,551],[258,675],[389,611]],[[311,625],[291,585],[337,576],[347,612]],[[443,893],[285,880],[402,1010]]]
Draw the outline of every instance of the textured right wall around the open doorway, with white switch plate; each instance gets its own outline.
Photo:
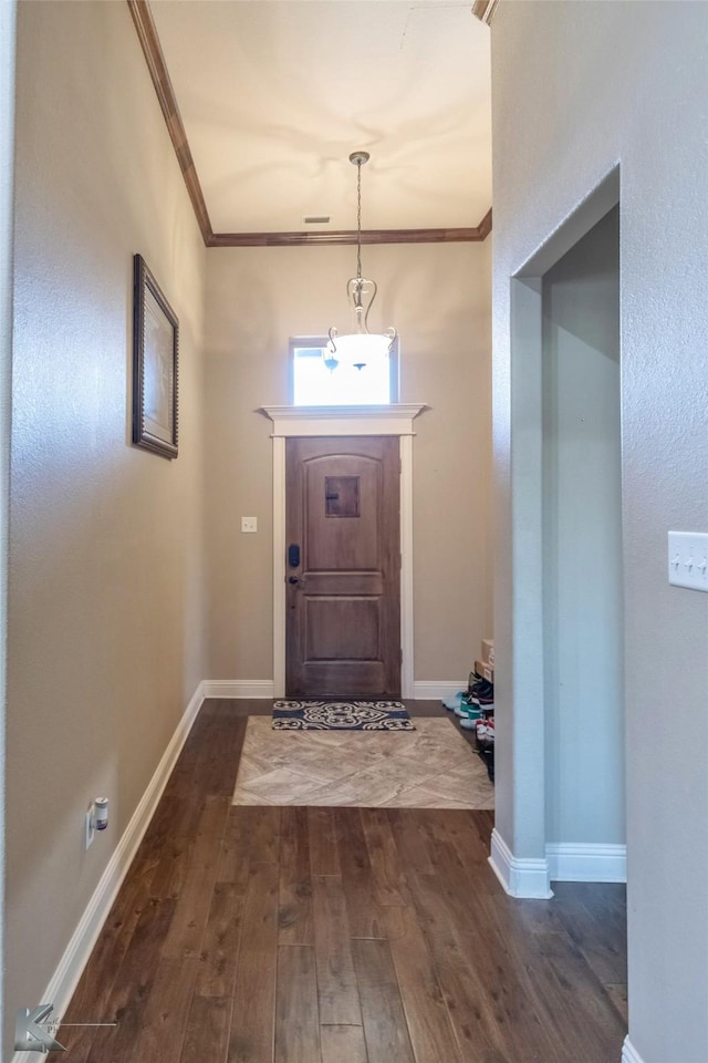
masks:
[[[523,534],[510,277],[618,163],[629,1035],[644,1063],[708,1059],[708,596],[667,584],[667,530],[708,529],[707,42],[693,2],[501,3],[492,29],[498,825],[524,855],[518,793],[543,791],[523,744],[509,770],[503,723],[530,708],[518,662],[533,637],[509,578]]]

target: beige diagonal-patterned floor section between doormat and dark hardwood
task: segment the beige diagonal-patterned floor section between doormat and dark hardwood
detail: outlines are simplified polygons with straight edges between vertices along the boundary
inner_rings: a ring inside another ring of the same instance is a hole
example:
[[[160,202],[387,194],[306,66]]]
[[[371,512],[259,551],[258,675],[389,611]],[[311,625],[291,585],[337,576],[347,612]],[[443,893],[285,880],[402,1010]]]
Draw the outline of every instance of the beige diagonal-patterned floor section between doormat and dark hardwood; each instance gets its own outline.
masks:
[[[250,716],[235,805],[493,808],[480,758],[442,716],[415,731],[274,731]]]

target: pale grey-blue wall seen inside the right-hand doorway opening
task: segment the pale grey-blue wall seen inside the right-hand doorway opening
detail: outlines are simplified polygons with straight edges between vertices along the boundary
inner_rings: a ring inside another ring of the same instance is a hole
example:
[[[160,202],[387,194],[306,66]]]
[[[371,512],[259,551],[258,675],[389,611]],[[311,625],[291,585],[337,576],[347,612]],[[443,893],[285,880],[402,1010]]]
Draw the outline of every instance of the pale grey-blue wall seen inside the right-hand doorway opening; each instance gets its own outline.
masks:
[[[546,842],[622,844],[620,216],[543,278]]]

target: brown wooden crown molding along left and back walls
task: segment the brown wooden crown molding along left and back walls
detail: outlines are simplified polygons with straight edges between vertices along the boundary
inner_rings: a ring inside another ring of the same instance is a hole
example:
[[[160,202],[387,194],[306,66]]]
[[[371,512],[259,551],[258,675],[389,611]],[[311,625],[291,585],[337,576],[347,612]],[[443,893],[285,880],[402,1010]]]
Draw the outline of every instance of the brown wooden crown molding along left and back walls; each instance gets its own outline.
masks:
[[[356,230],[315,233],[215,233],[204,198],[199,176],[191,156],[177,97],[169,78],[165,54],[148,0],[126,0],[145,62],[167,125],[177,162],[191,200],[197,224],[206,247],[316,247],[356,244]],[[491,0],[493,7],[497,0]],[[459,244],[485,240],[491,230],[491,210],[478,226],[451,229],[368,229],[362,244]]]

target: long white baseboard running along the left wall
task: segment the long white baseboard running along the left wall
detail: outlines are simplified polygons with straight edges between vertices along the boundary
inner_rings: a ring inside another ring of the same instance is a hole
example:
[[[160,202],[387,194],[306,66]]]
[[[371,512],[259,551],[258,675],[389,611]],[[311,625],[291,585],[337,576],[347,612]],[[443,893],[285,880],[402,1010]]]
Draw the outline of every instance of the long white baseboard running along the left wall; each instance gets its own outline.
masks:
[[[147,789],[143,794],[140,802],[133,813],[123,837],[118,842],[113,856],[106,865],[98,885],[93,891],[93,896],[79,920],[79,926],[74,930],[69,945],[62,956],[59,967],[50,979],[49,985],[42,993],[41,1000],[28,1002],[29,1008],[39,1007],[39,1004],[51,1003],[53,1014],[61,1015],[69,1005],[71,998],[76,989],[79,979],[84,967],[88,961],[91,951],[96,943],[96,939],[103,928],[111,906],[115,900],[118,889],[125,878],[131,864],[137,852],[137,847],[143,840],[150,819],[157,807],[157,803],[163,795],[167,780],[181,747],[187,740],[187,735],[199,712],[204,701],[204,683],[199,683],[189,704],[187,705],[181,720],[177,724],[169,745],[165,750],[163,757],[155,770]],[[12,1063],[37,1063],[37,1052],[15,1052],[12,1056]]]

